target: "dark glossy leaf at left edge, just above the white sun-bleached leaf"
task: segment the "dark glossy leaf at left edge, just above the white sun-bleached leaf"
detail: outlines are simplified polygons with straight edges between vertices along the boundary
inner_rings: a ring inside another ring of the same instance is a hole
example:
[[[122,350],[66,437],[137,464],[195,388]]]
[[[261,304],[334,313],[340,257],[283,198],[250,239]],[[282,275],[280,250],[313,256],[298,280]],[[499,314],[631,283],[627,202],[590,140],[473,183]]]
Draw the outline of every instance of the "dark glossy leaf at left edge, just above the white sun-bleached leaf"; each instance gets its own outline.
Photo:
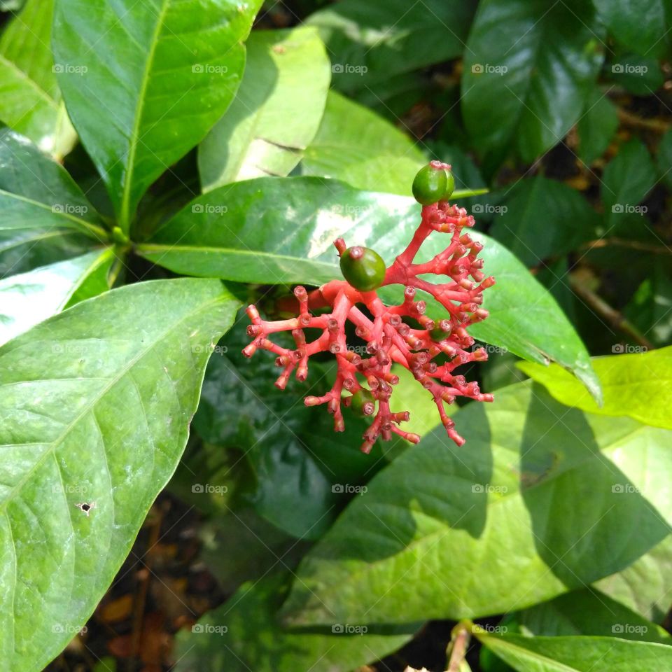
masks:
[[[82,253],[107,237],[93,206],[64,169],[24,137],[0,129],[3,275]]]

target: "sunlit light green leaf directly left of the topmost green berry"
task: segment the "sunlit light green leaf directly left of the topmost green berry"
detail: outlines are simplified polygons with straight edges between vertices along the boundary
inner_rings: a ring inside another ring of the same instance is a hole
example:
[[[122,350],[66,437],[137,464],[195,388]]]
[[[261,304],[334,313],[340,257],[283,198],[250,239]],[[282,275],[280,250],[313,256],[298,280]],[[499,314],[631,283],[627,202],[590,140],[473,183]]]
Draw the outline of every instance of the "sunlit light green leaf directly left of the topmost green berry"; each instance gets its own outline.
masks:
[[[416,172],[426,162],[412,140],[388,120],[331,91],[301,168],[304,175],[408,196]]]

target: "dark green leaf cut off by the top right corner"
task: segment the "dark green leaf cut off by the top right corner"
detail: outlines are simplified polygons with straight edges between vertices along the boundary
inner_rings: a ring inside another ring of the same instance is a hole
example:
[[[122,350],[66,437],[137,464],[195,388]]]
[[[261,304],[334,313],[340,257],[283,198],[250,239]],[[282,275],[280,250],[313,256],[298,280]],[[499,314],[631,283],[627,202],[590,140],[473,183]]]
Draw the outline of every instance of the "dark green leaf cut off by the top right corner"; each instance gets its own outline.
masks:
[[[595,6],[619,43],[643,56],[666,55],[672,23],[670,0],[595,0]]]

